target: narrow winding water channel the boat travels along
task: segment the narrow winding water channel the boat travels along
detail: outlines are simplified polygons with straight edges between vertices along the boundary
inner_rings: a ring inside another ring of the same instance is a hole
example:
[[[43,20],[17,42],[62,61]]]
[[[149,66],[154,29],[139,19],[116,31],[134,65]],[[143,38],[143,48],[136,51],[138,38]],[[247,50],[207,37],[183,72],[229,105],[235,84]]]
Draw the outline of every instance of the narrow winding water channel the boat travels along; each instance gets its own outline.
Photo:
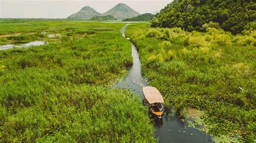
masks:
[[[125,37],[125,28],[129,24],[125,25],[121,32]],[[127,38],[128,39],[128,38]],[[129,39],[128,39],[129,40]],[[148,86],[145,78],[142,76],[140,68],[139,54],[134,45],[131,42],[133,66],[130,68],[127,77],[116,83],[116,87],[129,88],[133,94],[139,95],[143,100],[144,86]],[[156,130],[154,134],[159,142],[213,142],[210,135],[199,131],[197,128],[188,127],[188,120],[181,122],[176,116],[172,114],[170,109],[165,110],[165,115],[162,119],[153,119],[154,127]]]

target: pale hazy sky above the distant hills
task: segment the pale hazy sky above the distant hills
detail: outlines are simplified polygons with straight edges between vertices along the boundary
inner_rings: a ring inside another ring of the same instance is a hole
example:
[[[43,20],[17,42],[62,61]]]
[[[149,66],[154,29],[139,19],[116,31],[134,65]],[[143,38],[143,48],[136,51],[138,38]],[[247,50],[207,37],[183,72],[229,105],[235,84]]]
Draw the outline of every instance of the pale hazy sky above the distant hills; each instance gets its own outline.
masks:
[[[66,18],[84,6],[103,13],[125,3],[140,13],[163,9],[172,0],[0,0],[0,18]]]

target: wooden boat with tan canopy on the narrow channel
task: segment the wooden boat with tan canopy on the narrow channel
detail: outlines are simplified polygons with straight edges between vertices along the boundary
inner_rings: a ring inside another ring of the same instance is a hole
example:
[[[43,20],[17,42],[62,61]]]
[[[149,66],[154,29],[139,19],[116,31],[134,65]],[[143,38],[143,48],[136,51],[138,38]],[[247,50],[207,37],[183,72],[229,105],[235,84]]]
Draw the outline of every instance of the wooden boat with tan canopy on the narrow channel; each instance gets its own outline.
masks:
[[[143,87],[144,104],[149,106],[153,116],[161,118],[164,115],[164,99],[155,87]]]

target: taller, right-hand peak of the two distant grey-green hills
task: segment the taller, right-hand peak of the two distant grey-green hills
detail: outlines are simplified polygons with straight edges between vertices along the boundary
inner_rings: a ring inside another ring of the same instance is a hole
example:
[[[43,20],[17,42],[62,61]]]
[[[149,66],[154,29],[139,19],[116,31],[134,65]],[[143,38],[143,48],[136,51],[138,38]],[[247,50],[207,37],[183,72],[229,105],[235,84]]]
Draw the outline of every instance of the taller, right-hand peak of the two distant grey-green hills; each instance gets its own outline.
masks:
[[[112,9],[109,11],[106,11],[102,14],[103,16],[106,15],[112,15],[118,20],[123,20],[126,18],[131,18],[140,15],[139,12],[131,9],[128,5],[119,3],[116,6],[114,6]]]

